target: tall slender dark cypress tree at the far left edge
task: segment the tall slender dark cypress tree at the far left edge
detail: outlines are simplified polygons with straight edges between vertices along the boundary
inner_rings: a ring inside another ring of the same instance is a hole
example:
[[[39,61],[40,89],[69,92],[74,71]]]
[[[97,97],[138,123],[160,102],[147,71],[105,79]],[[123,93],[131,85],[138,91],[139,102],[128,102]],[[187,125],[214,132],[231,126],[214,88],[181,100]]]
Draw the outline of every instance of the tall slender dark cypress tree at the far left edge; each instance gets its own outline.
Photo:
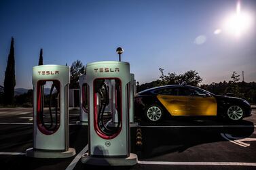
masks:
[[[7,60],[4,80],[4,104],[14,104],[15,60],[14,60],[14,37],[12,37],[10,53]]]

